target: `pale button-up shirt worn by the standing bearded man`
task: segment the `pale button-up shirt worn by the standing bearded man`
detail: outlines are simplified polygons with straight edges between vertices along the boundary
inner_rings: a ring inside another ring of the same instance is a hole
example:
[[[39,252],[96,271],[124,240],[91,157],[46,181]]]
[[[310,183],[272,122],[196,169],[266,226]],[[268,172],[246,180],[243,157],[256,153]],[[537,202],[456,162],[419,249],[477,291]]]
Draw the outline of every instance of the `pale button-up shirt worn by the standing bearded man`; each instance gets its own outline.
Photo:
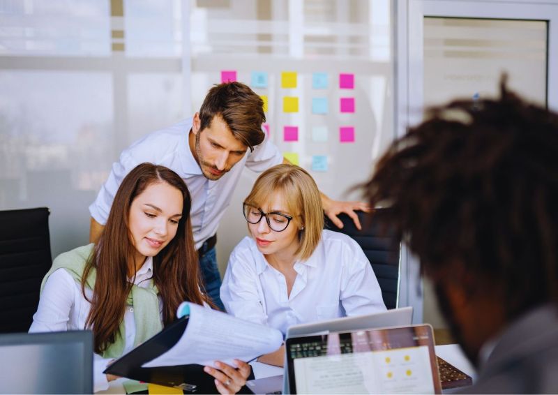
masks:
[[[190,218],[196,248],[200,248],[206,239],[217,232],[219,221],[232,198],[232,193],[239,182],[243,168],[246,166],[255,172],[282,163],[283,157],[278,148],[268,140],[255,147],[217,181],[204,177],[190,151],[188,133],[192,128],[192,119],[146,135],[122,151],[118,162],[112,165],[112,171],[100,188],[97,198],[89,211],[91,216],[104,225],[118,190],[126,174],[140,163],[150,162],[163,165],[179,174],[192,197]]]

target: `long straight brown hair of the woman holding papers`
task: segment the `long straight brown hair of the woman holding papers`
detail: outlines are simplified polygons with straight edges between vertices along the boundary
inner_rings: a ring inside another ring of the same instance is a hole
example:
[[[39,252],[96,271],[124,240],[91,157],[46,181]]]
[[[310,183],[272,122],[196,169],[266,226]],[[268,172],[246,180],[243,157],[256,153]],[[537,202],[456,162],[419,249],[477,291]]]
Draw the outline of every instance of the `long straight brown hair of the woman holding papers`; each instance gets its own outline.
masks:
[[[124,177],[116,195],[107,223],[86,263],[82,276],[82,293],[91,269],[96,269],[96,282],[91,300],[91,311],[86,327],[92,327],[96,352],[103,352],[114,343],[120,322],[124,318],[126,298],[133,283],[128,273],[133,268],[135,278],[135,246],[128,220],[130,206],[137,195],[155,183],[165,182],[181,191],[182,217],[176,235],[153,257],[153,281],[163,299],[163,324],[176,319],[176,309],[182,301],[197,304],[208,302],[202,294],[197,251],[190,223],[191,199],[188,188],[178,174],[164,166],[142,163]],[[211,303],[210,303],[211,304]],[[122,334],[123,335],[123,334]]]

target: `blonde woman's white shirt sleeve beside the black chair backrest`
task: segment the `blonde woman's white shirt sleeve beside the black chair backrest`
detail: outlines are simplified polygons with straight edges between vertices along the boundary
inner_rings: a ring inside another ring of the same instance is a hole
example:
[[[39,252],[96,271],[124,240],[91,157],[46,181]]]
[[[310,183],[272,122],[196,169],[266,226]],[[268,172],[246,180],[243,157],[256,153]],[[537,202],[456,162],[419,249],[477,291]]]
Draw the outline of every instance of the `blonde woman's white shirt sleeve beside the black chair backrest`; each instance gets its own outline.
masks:
[[[340,299],[347,315],[386,310],[382,290],[362,248],[350,240],[342,251]]]

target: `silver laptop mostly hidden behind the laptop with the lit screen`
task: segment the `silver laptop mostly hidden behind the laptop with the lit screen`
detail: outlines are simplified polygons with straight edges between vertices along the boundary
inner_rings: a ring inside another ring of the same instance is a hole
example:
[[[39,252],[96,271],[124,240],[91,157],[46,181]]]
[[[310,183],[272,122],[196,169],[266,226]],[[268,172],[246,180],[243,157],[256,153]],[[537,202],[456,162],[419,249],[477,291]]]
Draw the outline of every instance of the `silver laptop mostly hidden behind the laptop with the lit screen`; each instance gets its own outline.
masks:
[[[353,317],[335,318],[333,320],[310,322],[308,324],[293,325],[287,329],[285,338],[293,336],[305,336],[310,334],[326,334],[330,331],[352,331],[356,329],[370,329],[378,327],[395,327],[399,325],[410,325],[413,318],[413,308],[402,307],[382,311],[380,313],[356,315]],[[282,385],[278,386],[277,383]],[[250,380],[248,388],[255,394],[288,394],[289,382],[287,376],[287,364],[283,369],[282,376],[271,376]]]

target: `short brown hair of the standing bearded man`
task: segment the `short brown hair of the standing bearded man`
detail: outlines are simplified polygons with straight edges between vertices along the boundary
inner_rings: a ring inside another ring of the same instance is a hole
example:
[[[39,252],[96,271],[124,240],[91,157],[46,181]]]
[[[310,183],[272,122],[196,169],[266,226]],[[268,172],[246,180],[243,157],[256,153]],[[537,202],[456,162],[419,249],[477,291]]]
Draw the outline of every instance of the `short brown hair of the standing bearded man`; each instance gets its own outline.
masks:
[[[264,101],[241,82],[225,82],[209,89],[199,109],[201,131],[211,126],[213,117],[221,117],[236,140],[250,150],[264,141]]]

